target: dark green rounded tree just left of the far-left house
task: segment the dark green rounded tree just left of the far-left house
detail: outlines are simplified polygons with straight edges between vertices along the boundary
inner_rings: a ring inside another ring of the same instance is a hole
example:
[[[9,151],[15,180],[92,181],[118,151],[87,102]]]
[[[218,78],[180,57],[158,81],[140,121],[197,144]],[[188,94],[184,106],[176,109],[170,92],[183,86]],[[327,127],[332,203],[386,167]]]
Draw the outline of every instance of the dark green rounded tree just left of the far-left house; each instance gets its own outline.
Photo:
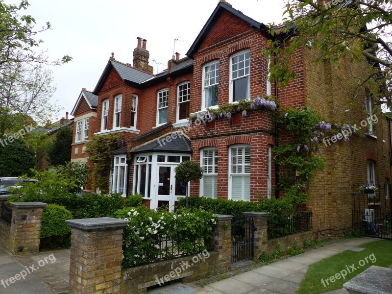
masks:
[[[71,126],[61,127],[56,132],[56,136],[47,150],[48,161],[51,165],[63,165],[71,161],[72,139],[73,128]]]

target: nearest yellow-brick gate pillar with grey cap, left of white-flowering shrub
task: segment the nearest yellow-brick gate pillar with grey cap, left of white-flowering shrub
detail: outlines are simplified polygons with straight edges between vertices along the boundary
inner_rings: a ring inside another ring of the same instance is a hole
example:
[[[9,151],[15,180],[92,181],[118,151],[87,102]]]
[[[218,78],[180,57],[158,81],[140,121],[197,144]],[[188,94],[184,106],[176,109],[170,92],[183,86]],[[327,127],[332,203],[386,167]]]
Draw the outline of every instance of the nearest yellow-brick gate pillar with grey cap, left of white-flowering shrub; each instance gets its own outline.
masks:
[[[67,224],[72,228],[70,294],[119,294],[123,228],[128,221],[95,218]]]

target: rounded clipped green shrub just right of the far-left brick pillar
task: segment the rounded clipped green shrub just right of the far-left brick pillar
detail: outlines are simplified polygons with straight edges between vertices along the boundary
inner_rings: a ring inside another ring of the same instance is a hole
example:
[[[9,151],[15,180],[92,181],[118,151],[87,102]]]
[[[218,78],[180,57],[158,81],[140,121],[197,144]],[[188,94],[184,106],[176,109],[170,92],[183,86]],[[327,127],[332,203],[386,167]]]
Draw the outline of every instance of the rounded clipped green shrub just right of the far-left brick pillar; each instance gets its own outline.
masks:
[[[67,239],[71,234],[71,228],[65,222],[71,220],[72,214],[64,206],[48,204],[42,214],[40,239],[42,247],[49,245],[50,248],[67,246]]]

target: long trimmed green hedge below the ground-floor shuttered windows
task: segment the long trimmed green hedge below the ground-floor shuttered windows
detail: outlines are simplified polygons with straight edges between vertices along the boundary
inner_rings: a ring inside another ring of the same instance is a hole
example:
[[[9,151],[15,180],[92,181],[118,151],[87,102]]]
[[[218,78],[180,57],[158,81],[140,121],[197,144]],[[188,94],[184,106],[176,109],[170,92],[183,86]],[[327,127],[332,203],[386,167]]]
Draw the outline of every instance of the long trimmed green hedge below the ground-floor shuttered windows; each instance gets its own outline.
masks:
[[[185,205],[186,199],[179,199],[178,206],[185,207]],[[278,223],[287,221],[292,206],[287,201],[284,201],[284,199],[262,199],[259,203],[255,203],[194,196],[189,197],[189,208],[211,210],[214,214],[230,215],[234,217],[234,221],[244,219],[243,212],[269,212],[268,235],[272,236],[273,227]]]

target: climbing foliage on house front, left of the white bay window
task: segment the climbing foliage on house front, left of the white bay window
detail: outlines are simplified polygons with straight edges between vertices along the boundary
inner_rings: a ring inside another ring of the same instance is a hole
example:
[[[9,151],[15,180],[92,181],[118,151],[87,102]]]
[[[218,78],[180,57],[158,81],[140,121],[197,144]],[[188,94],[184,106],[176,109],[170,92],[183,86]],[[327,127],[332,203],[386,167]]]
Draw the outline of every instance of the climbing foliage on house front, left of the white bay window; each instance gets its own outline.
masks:
[[[86,143],[86,152],[89,153],[89,162],[94,165],[94,185],[102,193],[109,193],[109,173],[113,151],[124,146],[123,136],[108,134],[93,136]]]

